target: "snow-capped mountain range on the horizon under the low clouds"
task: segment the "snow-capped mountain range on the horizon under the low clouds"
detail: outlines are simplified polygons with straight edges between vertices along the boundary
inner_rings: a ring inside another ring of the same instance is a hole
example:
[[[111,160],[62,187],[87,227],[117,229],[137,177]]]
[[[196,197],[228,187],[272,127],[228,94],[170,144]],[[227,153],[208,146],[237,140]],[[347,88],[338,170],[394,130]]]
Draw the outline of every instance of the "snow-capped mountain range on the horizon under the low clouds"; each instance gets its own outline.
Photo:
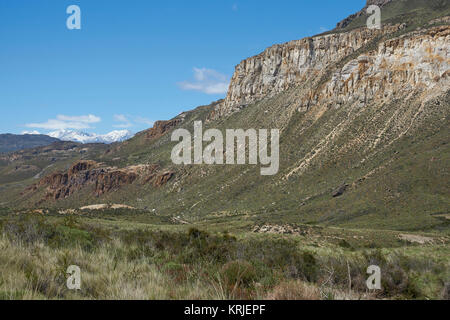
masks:
[[[58,130],[47,134],[63,141],[80,143],[113,143],[130,139],[134,136],[129,130],[115,130],[107,134],[87,133],[75,130]]]

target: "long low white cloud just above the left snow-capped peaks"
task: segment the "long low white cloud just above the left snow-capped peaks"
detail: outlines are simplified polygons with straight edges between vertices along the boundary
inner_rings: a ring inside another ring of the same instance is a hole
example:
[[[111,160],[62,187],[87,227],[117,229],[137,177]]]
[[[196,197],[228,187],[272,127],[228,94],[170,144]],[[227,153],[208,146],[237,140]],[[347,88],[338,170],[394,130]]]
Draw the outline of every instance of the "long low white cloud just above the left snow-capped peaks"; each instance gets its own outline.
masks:
[[[92,114],[84,116],[66,116],[58,115],[56,119],[48,119],[41,123],[28,123],[25,126],[28,128],[39,128],[46,130],[67,130],[67,129],[89,129],[91,124],[98,123],[101,118]]]

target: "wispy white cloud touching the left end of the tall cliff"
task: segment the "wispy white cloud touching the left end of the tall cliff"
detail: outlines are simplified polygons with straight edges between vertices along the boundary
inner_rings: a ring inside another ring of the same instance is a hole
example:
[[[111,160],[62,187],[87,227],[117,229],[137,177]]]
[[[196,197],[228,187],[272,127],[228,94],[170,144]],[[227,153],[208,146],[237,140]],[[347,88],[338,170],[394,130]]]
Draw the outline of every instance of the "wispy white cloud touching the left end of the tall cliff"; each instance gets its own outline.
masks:
[[[200,91],[206,94],[225,94],[228,91],[228,77],[213,69],[194,68],[195,81],[178,83],[182,90]]]

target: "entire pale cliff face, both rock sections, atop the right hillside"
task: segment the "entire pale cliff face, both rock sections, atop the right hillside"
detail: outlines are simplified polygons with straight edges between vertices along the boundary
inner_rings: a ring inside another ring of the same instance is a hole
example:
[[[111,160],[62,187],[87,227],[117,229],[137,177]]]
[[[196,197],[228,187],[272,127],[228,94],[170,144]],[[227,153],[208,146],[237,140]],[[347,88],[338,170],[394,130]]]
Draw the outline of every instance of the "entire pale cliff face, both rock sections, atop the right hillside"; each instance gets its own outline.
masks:
[[[227,97],[216,108],[215,115],[230,114],[303,84],[312,89],[299,101],[300,111],[325,99],[338,104],[349,99],[366,102],[404,86],[431,88],[447,81],[448,26],[383,41],[376,50],[349,59],[358,49],[378,41],[377,37],[403,28],[405,25],[385,26],[382,30],[360,28],[270,47],[236,67]],[[335,70],[334,66],[343,59],[350,61]],[[326,74],[330,66],[333,67],[331,77]],[[323,77],[325,86],[318,81]]]

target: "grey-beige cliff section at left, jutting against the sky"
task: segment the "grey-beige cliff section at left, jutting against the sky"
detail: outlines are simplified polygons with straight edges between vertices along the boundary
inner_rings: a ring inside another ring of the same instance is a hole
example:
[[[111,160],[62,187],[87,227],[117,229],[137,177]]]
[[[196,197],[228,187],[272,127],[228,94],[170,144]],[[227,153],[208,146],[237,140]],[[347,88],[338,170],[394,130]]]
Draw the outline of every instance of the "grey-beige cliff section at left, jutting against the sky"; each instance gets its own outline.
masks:
[[[354,53],[375,37],[403,27],[360,28],[272,46],[236,66],[227,97],[215,113],[223,116],[292,86],[320,78],[329,65]]]

